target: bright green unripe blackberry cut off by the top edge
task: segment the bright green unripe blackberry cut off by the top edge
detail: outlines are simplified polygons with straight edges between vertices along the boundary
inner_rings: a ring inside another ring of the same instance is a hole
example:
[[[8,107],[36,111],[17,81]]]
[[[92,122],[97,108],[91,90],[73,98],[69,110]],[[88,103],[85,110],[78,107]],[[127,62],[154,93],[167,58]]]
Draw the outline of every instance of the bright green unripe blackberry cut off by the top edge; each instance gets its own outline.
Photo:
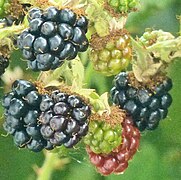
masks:
[[[135,11],[139,5],[139,0],[107,0],[109,5],[116,13],[127,14]],[[109,8],[106,6],[106,9]]]

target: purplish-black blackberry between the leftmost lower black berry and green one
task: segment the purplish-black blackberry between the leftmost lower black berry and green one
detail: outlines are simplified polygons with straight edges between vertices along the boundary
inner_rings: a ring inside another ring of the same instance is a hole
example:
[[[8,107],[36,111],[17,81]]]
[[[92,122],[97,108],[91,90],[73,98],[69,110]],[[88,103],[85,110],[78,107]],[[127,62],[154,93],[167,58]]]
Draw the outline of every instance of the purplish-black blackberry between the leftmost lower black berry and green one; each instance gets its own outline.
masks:
[[[41,134],[53,146],[77,144],[88,132],[90,108],[76,95],[55,90],[40,104]]]

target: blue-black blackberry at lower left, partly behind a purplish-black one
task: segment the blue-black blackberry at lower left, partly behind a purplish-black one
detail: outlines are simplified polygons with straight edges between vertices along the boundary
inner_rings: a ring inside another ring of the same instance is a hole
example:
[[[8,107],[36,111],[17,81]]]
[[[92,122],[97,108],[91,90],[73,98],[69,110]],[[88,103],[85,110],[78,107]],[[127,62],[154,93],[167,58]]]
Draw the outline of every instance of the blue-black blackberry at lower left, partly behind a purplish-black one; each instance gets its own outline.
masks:
[[[27,147],[34,152],[49,148],[38,123],[41,101],[42,96],[36,87],[25,80],[16,80],[12,84],[12,91],[2,100],[5,108],[3,127],[8,134],[13,135],[14,143],[19,148]]]

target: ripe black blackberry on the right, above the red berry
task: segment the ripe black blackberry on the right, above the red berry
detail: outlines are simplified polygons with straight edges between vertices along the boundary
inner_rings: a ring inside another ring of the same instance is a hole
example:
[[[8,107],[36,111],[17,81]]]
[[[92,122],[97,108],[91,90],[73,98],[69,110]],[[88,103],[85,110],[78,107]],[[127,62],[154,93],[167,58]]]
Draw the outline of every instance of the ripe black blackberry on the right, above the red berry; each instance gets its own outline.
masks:
[[[131,76],[131,73],[122,72],[115,77],[115,86],[111,89],[112,100],[132,116],[140,131],[154,130],[160,120],[167,117],[172,103],[172,97],[168,93],[172,88],[172,80],[164,77],[152,88],[143,84],[134,87]],[[134,76],[133,78],[136,79]]]

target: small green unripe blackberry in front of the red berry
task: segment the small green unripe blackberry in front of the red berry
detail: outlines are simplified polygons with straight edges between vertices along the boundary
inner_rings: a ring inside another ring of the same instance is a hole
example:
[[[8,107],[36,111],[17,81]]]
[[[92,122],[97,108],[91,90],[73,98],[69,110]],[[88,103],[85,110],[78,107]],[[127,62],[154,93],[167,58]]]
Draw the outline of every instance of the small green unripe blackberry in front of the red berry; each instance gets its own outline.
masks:
[[[98,116],[95,114],[89,123],[89,132],[84,138],[84,143],[96,154],[110,153],[121,144],[121,120],[124,117],[125,113],[118,107],[112,107],[109,115],[104,113],[102,116]],[[113,121],[115,123],[111,124]]]

